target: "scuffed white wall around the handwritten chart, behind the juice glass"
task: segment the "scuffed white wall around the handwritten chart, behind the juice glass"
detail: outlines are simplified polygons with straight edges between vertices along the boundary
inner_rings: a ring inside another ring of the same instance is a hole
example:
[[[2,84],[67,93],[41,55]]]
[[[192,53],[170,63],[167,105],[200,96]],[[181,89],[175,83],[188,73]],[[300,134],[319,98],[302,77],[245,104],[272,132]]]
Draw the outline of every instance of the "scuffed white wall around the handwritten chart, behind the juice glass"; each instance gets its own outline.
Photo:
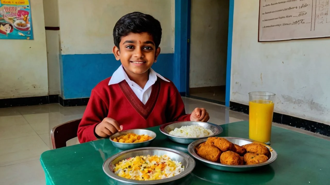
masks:
[[[235,0],[230,100],[277,94],[275,112],[330,124],[330,39],[258,42],[259,0]]]

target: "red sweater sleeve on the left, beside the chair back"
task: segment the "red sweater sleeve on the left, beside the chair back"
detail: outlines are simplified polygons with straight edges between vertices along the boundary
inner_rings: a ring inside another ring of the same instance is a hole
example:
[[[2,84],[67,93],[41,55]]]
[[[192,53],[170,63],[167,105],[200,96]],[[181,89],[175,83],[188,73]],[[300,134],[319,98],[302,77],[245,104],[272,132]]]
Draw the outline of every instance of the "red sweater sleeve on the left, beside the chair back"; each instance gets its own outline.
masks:
[[[92,90],[86,110],[78,126],[78,140],[80,143],[97,140],[95,126],[107,117],[108,106],[102,98]]]

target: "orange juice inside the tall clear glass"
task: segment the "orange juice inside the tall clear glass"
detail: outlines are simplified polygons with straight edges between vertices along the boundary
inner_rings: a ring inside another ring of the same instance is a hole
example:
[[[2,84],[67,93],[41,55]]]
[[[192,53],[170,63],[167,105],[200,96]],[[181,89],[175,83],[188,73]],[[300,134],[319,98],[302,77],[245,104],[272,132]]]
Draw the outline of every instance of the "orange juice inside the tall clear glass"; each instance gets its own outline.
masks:
[[[272,132],[274,102],[252,100],[249,102],[249,138],[269,143]]]

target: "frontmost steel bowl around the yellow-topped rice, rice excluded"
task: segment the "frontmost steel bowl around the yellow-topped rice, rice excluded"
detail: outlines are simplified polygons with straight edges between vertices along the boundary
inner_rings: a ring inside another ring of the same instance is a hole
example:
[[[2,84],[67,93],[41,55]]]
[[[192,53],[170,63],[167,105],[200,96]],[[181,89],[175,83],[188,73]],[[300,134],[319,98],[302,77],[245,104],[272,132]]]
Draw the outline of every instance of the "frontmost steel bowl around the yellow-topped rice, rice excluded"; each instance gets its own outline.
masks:
[[[120,177],[116,175],[113,172],[113,166],[116,165],[119,161],[125,160],[130,157],[136,157],[136,156],[147,156],[147,155],[168,155],[171,160],[181,162],[182,166],[184,166],[184,171],[176,176],[160,179],[160,180],[131,180],[126,179],[124,177]],[[123,182],[123,183],[129,183],[129,184],[160,184],[160,183],[166,183],[171,182],[174,180],[178,180],[186,175],[188,175],[192,170],[195,168],[195,160],[190,157],[188,154],[170,149],[170,148],[161,148],[161,147],[145,147],[145,148],[136,148],[132,150],[122,151],[114,156],[108,158],[103,163],[103,171],[114,180]]]

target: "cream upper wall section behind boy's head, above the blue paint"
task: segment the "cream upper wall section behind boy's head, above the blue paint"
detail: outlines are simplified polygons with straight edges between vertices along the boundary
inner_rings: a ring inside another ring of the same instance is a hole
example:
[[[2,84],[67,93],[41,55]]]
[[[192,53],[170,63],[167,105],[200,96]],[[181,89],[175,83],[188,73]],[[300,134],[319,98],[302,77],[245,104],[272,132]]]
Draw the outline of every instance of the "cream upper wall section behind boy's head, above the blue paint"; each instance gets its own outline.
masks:
[[[162,53],[174,53],[174,0],[58,0],[62,54],[112,53],[117,20],[135,11],[161,22]]]

